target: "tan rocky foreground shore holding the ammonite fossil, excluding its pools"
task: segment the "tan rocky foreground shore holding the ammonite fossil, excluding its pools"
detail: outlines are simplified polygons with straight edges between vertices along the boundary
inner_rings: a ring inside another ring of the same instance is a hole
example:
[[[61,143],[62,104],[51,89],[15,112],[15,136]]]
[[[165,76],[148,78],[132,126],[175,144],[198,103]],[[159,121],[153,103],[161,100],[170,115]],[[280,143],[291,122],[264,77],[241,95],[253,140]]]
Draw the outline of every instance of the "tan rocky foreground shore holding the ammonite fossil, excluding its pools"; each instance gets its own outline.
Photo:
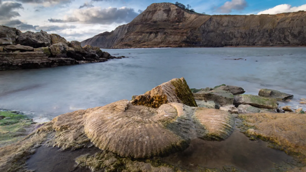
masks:
[[[0,144],[0,169],[29,171],[27,159],[35,155],[39,147],[41,150],[47,149],[43,146],[53,146],[61,151],[82,150],[82,155],[67,151],[65,155],[74,159],[76,168],[98,172],[244,171],[237,166],[211,169],[197,164],[182,168],[178,162],[162,161],[164,156],[186,148],[192,150],[192,140],[205,140],[214,145],[228,140],[238,128],[250,140],[267,142],[269,147],[292,157],[292,162],[274,164],[270,171],[305,171],[306,114],[301,108],[278,107],[278,102],[291,99],[293,95],[270,89],[262,89],[258,95],[244,93],[241,87],[225,84],[189,89],[184,78],[176,78],[143,95],[134,95],[130,101],[119,100],[103,107],[59,115],[38,129],[32,128],[31,134],[18,137],[12,144]],[[5,133],[1,127],[19,125],[23,121],[34,125],[16,112],[5,113],[11,116],[1,114],[4,117],[0,119],[1,133]],[[8,123],[12,117],[18,119]],[[19,131],[17,128],[15,132]],[[13,131],[6,133],[13,134]],[[3,141],[5,139],[0,143]],[[92,147],[96,147],[96,151],[87,154],[92,152]]]

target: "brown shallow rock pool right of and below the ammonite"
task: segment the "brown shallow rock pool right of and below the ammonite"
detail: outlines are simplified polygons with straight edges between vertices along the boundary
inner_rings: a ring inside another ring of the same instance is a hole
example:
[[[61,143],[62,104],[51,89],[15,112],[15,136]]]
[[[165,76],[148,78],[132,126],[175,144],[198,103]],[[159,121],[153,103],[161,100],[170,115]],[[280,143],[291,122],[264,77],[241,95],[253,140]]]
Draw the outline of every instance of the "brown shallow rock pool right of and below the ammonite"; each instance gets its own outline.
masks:
[[[221,142],[194,139],[185,151],[162,158],[162,161],[188,170],[195,170],[197,166],[235,166],[248,172],[260,172],[270,171],[274,163],[293,162],[293,158],[282,151],[268,148],[266,142],[249,140],[236,129]]]

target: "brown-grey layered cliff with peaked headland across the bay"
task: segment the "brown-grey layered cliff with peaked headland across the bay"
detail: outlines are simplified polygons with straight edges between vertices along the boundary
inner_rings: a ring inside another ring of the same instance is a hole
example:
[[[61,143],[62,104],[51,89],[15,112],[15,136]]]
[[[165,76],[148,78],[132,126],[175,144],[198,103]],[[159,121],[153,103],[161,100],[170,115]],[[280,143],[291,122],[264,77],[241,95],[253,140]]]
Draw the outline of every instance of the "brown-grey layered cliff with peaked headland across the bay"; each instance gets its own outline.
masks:
[[[132,22],[81,42],[100,48],[306,45],[306,12],[204,15],[154,3]]]

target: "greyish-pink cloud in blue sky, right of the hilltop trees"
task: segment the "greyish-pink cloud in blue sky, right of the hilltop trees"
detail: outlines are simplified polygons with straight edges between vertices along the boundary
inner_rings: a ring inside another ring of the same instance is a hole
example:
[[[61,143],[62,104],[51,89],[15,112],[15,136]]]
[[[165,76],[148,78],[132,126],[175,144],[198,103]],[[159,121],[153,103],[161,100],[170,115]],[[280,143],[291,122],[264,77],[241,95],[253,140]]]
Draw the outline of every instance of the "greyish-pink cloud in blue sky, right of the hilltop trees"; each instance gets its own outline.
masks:
[[[231,13],[232,10],[243,10],[248,6],[248,3],[245,0],[232,0],[224,3],[223,6],[220,6],[217,11],[220,13]]]

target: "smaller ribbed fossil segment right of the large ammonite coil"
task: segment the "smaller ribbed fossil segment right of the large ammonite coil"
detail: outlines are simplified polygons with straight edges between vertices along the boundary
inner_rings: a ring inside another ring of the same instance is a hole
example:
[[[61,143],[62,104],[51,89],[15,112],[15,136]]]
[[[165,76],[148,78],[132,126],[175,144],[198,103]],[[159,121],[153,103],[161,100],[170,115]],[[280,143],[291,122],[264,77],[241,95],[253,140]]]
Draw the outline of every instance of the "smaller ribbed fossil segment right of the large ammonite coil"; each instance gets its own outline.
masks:
[[[195,121],[205,127],[206,138],[225,140],[234,129],[235,118],[229,112],[198,107],[194,113]]]

